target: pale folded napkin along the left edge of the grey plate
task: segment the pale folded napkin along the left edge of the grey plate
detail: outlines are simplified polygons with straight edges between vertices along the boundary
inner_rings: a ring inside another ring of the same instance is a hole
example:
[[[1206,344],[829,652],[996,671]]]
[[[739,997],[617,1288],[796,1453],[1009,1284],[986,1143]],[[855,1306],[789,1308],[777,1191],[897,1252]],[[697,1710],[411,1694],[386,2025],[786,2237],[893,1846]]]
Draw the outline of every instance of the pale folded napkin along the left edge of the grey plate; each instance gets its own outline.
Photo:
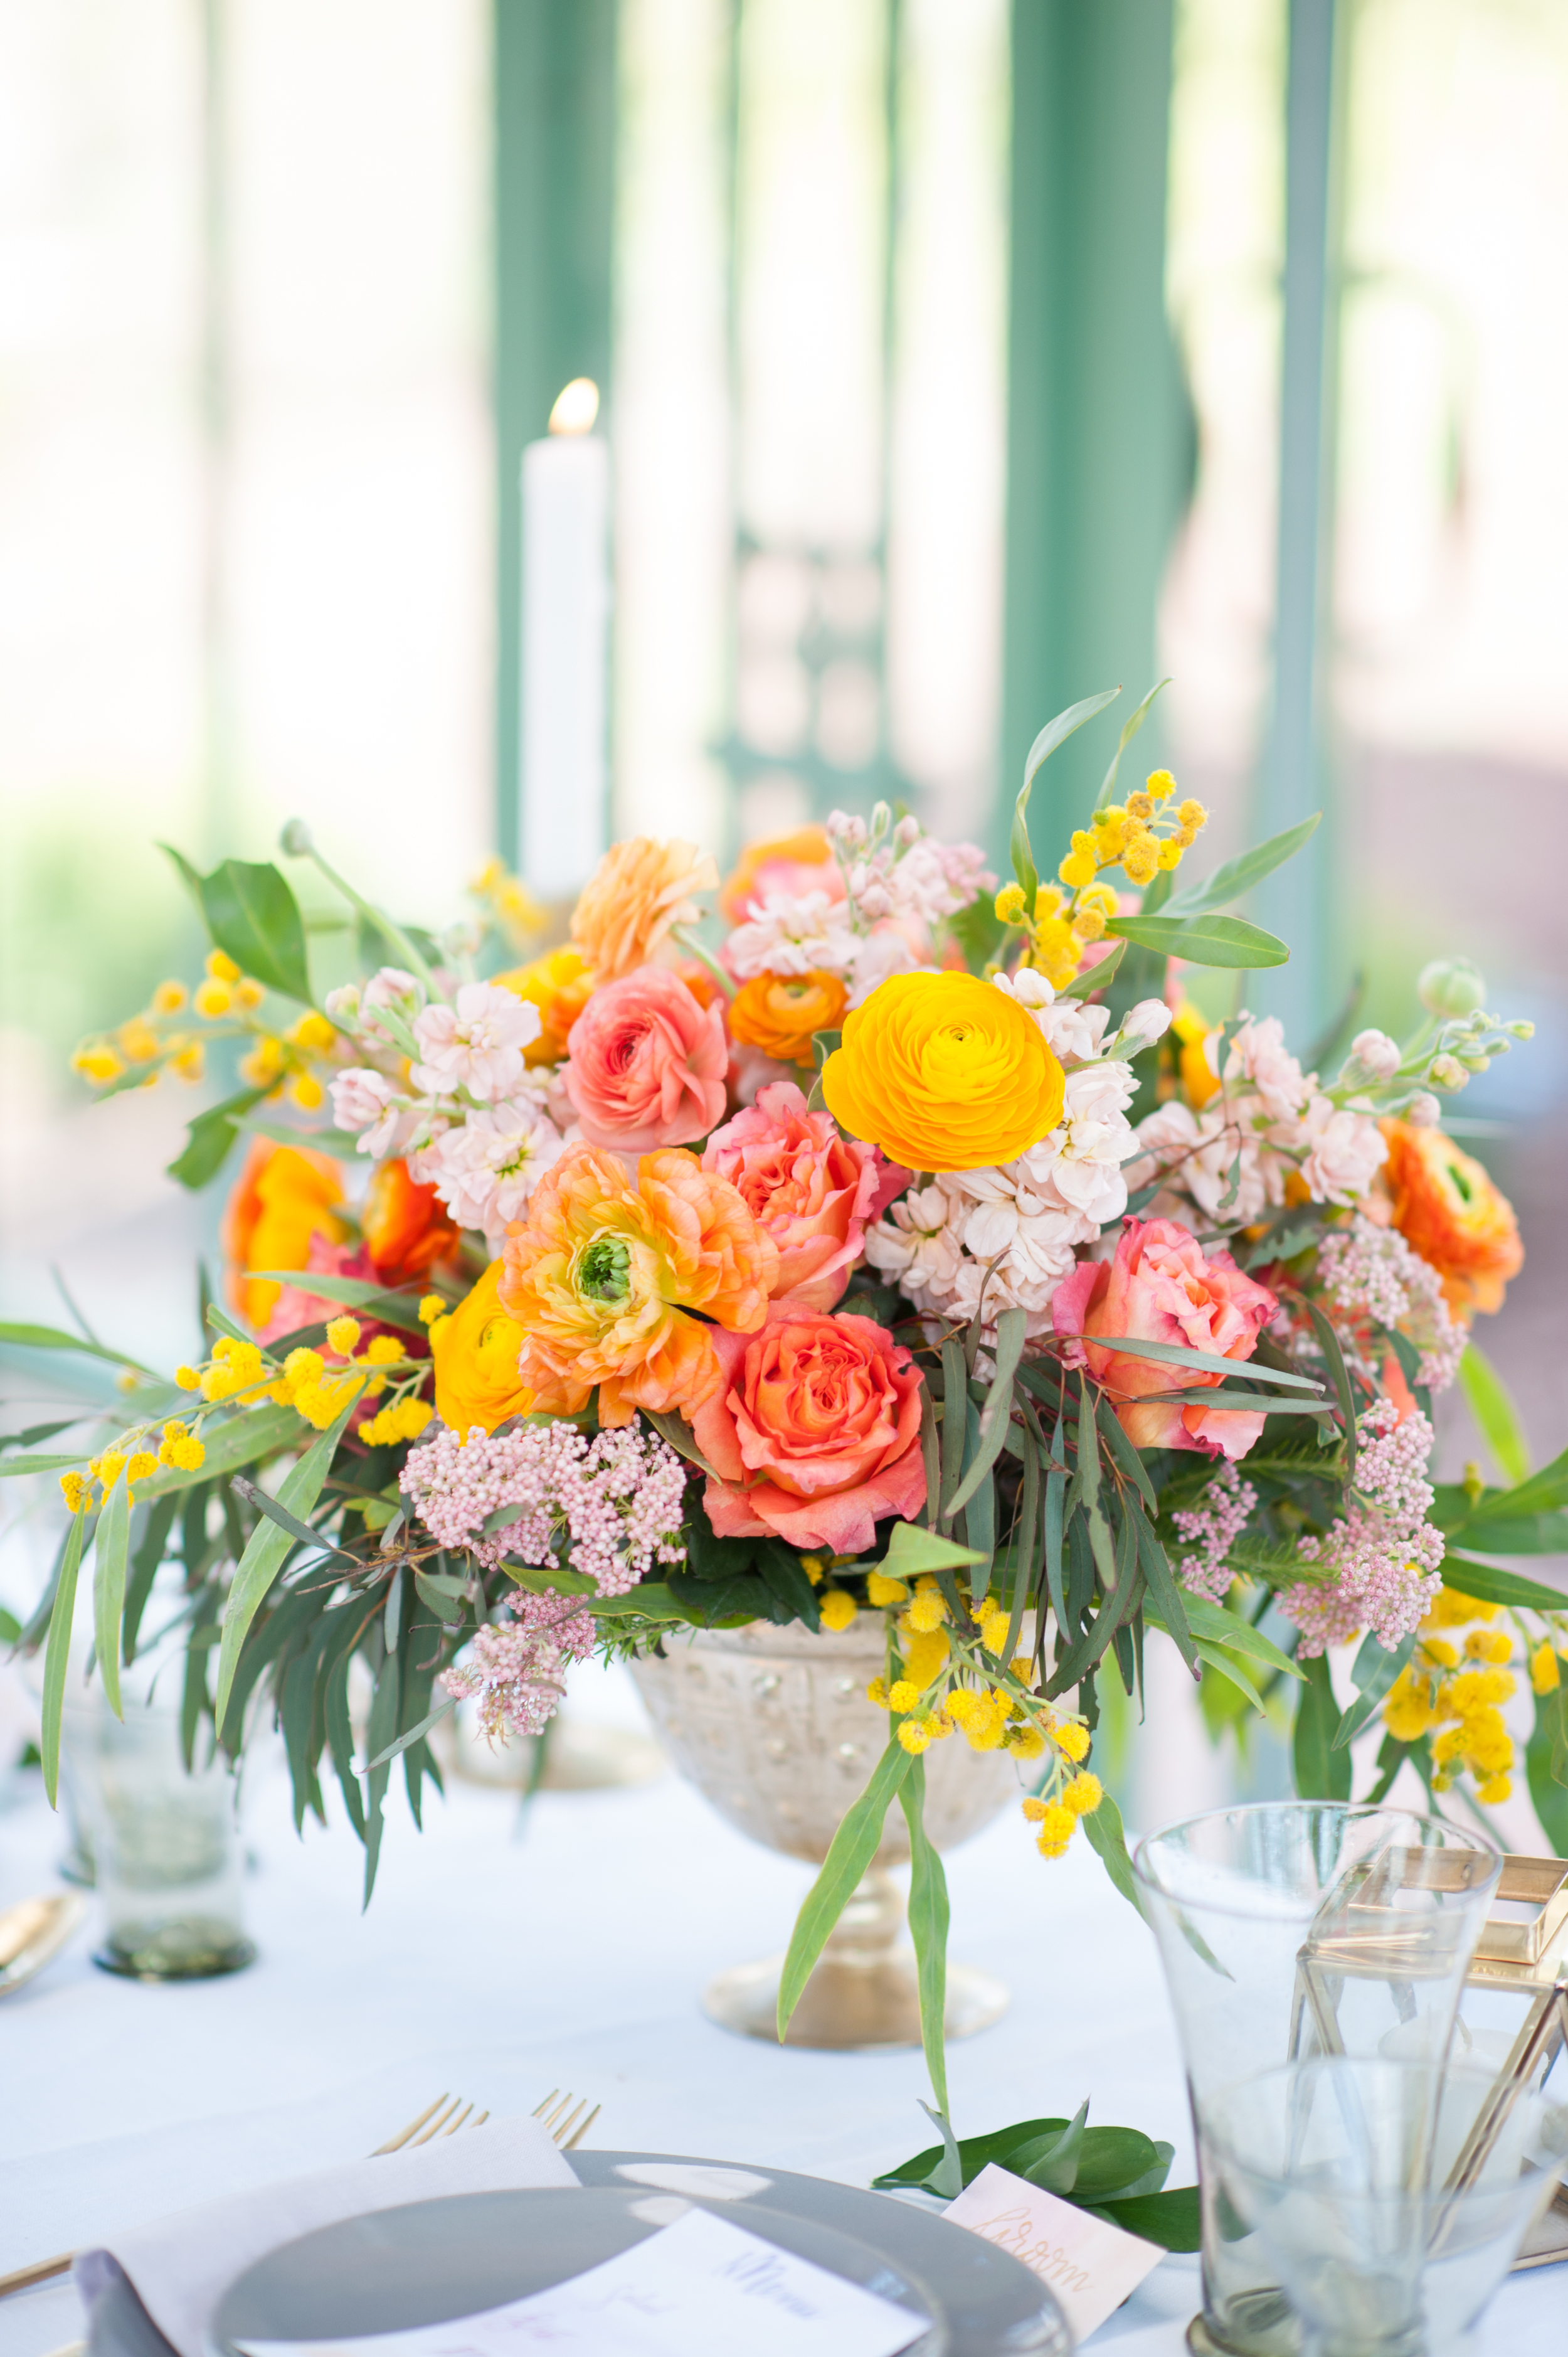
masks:
[[[108,2256],[132,2279],[149,2317],[179,2357],[203,2357],[203,2324],[236,2275],[299,2234],[441,2194],[575,2183],[538,2119],[490,2119],[483,2128],[462,2128],[460,2135],[436,2138],[415,2152],[316,2168],[309,2178],[285,2178],[281,2185],[153,2218],[118,2234]],[[94,2256],[85,2253],[87,2267]]]

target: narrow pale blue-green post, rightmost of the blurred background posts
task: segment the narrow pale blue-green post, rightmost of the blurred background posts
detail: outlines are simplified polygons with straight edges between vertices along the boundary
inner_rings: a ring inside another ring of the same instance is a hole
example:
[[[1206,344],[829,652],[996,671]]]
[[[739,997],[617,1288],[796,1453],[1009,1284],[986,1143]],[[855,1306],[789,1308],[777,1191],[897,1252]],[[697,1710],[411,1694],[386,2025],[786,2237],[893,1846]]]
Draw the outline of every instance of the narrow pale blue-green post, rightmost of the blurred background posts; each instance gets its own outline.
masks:
[[[1276,870],[1257,893],[1257,922],[1290,943],[1290,964],[1250,978],[1247,999],[1259,1011],[1280,1016],[1287,1039],[1302,1054],[1332,1021],[1337,997],[1323,643],[1339,361],[1342,64],[1335,42],[1335,0],[1290,0],[1273,707],[1254,834],[1266,839],[1299,825],[1313,811],[1325,811],[1325,818],[1306,851]]]

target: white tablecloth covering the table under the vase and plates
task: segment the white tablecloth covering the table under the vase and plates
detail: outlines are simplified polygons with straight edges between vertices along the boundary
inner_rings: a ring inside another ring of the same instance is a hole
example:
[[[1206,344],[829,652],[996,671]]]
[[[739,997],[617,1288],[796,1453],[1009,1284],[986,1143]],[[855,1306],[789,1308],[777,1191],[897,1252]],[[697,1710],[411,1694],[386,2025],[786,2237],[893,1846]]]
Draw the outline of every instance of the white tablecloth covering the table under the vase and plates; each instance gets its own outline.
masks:
[[[118,2225],[349,2159],[443,2088],[495,2112],[549,2088],[604,2105],[601,2147],[762,2161],[865,2185],[929,2143],[917,2053],[828,2055],[717,2029],[719,1966],[783,1949],[809,1869],[724,1827],[677,1777],[634,1791],[516,1798],[453,1784],[424,1836],[394,1780],[382,1874],[361,1914],[342,1824],[297,1841],[288,1784],[252,1796],[248,1881],[259,1961],[229,1980],[141,1987],[99,1973],[90,1937],[0,2003],[0,2272]],[[0,1904],[47,1888],[61,1824],[0,1815]],[[1191,2126],[1153,1940],[1085,1843],[1049,1864],[1009,1810],[948,1860],[950,1952],[1000,1973],[1000,2027],[950,2048],[960,2133],[1035,2114]],[[1094,2336],[1179,2357],[1195,2260],[1165,2260]],[[0,2357],[80,2333],[68,2284],[0,2300]],[[1514,2277],[1485,2357],[1561,2357],[1568,2267]]]

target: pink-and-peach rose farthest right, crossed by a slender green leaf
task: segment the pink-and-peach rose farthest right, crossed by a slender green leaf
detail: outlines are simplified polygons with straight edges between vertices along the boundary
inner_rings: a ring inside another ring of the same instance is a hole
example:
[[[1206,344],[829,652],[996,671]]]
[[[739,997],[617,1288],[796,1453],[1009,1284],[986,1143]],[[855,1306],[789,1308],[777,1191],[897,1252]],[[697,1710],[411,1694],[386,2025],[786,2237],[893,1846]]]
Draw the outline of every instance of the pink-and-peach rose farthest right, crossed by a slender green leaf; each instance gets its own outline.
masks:
[[[1257,1336],[1278,1301],[1266,1285],[1245,1277],[1228,1252],[1205,1261],[1198,1237],[1174,1219],[1129,1219],[1113,1261],[1080,1261],[1056,1287],[1056,1332],[1082,1336],[1075,1365],[1087,1365],[1118,1402],[1115,1414],[1141,1450],[1203,1450],[1207,1457],[1245,1457],[1264,1428],[1264,1417],[1226,1407],[1172,1407],[1162,1391],[1210,1391],[1224,1376],[1177,1367],[1155,1358],[1103,1351],[1092,1334],[1125,1334],[1129,1341],[1174,1341],[1210,1358],[1252,1358]]]

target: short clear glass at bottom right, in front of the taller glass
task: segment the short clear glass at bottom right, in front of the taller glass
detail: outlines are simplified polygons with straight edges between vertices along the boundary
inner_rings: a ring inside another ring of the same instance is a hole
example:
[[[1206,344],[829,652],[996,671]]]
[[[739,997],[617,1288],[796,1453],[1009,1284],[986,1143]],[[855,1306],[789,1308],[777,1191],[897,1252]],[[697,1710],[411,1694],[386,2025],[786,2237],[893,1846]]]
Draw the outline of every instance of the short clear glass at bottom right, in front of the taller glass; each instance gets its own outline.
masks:
[[[1521,2095],[1485,2150],[1490,2072],[1318,2055],[1210,2105],[1231,2230],[1257,2237],[1306,2357],[1464,2357],[1568,2166],[1568,2105]]]

